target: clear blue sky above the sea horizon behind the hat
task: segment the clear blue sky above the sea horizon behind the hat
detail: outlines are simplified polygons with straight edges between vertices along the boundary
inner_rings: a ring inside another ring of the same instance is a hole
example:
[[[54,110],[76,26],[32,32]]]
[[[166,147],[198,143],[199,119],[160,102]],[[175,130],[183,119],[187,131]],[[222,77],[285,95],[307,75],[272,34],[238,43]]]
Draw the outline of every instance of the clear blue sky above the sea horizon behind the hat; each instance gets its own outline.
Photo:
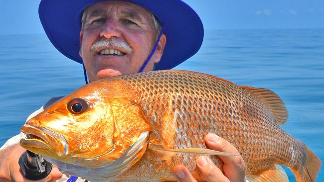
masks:
[[[205,29],[324,28],[324,0],[184,0]],[[0,34],[44,33],[40,0],[0,0]]]

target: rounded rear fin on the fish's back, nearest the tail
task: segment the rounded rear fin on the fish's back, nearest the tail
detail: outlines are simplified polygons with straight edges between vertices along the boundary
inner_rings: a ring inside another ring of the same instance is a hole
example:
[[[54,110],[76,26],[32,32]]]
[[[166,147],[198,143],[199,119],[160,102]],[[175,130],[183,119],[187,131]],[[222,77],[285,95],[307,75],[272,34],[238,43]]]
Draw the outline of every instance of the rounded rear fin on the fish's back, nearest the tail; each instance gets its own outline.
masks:
[[[273,91],[264,88],[254,88],[239,86],[241,89],[249,91],[252,95],[261,100],[275,116],[277,124],[283,125],[287,122],[288,111],[284,101]]]

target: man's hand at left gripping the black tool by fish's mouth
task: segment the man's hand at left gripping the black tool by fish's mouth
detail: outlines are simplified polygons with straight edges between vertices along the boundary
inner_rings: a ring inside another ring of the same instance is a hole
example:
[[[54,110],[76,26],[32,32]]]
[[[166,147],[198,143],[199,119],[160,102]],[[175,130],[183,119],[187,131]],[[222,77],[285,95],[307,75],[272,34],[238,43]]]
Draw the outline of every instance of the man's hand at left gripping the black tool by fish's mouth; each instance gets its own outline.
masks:
[[[35,182],[25,179],[20,170],[18,160],[26,149],[19,144],[0,151],[0,182]],[[53,166],[51,173],[43,180],[36,182],[55,182],[62,178],[62,173]]]

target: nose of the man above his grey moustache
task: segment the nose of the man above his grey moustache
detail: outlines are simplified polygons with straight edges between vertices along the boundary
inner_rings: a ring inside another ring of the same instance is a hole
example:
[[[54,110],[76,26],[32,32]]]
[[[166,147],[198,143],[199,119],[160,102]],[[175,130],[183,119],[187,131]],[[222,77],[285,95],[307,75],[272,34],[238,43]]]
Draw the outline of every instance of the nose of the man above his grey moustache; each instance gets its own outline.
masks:
[[[101,28],[100,36],[107,39],[112,37],[119,38],[121,36],[121,29],[117,20],[108,18]]]

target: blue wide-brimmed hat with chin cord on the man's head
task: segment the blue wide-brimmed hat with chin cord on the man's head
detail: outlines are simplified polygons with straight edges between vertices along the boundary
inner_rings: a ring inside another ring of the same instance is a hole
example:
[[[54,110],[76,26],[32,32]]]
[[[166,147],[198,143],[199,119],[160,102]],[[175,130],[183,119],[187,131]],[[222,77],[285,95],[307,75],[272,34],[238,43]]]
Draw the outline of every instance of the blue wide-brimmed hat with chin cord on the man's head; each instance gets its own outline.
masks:
[[[46,35],[63,55],[82,64],[79,55],[83,10],[103,0],[42,0],[39,18]],[[150,10],[164,27],[166,44],[155,70],[171,69],[194,55],[203,40],[197,13],[181,0],[123,0]]]

